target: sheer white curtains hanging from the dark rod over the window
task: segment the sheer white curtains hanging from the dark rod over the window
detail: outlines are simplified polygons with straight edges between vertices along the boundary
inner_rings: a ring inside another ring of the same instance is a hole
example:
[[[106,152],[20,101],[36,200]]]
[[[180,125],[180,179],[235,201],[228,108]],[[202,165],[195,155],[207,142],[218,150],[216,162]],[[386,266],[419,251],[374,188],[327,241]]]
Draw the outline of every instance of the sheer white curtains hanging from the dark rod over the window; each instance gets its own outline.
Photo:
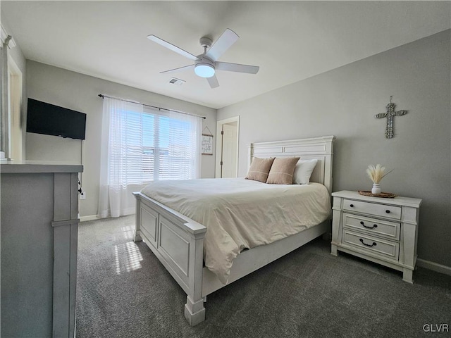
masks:
[[[98,216],[135,213],[154,180],[200,177],[200,118],[104,97]]]

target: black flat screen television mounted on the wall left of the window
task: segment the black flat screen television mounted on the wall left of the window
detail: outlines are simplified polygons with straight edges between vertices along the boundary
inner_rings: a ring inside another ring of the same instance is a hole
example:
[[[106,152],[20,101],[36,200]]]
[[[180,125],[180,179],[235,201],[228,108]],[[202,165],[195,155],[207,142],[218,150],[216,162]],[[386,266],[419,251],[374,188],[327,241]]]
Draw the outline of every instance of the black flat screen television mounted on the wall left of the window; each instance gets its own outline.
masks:
[[[27,132],[85,139],[86,114],[28,99]]]

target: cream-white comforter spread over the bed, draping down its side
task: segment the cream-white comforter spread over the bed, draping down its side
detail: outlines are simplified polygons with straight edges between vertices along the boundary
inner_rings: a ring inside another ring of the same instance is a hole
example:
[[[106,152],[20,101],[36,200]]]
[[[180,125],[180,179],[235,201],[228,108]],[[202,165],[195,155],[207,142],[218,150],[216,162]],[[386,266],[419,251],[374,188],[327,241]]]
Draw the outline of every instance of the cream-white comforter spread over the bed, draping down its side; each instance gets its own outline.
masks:
[[[318,183],[266,184],[244,178],[156,181],[141,192],[207,227],[205,265],[224,284],[243,249],[296,234],[330,215],[329,192]]]

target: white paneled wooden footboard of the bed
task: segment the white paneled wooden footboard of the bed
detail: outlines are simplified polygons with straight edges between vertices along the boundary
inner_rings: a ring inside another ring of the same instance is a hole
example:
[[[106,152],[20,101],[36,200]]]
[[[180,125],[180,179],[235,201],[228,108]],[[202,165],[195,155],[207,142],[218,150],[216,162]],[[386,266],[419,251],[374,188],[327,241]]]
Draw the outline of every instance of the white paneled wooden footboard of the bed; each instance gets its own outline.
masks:
[[[185,318],[205,320],[202,263],[206,227],[140,192],[136,198],[135,242],[144,242],[187,294]]]

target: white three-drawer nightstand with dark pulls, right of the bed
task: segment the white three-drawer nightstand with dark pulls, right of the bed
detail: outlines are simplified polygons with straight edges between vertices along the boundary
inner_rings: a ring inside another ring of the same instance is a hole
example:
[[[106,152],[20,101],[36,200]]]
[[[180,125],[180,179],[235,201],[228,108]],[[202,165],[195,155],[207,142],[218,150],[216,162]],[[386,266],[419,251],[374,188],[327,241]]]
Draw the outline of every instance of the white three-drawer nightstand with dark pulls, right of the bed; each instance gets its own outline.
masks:
[[[333,192],[332,250],[402,271],[412,283],[421,199]]]

